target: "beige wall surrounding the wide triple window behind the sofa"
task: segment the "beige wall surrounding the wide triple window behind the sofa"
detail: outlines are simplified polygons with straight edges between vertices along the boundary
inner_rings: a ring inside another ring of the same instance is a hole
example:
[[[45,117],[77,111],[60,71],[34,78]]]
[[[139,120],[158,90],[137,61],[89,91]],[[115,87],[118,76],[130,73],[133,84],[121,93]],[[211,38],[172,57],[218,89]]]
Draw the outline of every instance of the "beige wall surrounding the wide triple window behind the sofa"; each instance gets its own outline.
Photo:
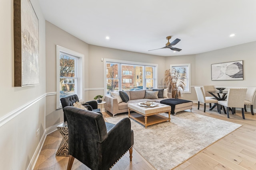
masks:
[[[89,88],[99,88],[89,91],[89,100],[98,94],[104,96],[104,62],[101,58],[158,64],[157,86],[163,85],[165,57],[89,45]]]

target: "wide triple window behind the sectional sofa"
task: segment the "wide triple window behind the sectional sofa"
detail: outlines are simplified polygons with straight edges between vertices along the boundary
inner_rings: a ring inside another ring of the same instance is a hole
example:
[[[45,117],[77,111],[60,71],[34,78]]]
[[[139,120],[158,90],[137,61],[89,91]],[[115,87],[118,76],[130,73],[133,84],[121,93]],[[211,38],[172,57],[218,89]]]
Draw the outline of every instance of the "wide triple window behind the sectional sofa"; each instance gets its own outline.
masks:
[[[105,94],[156,87],[157,64],[105,59]]]

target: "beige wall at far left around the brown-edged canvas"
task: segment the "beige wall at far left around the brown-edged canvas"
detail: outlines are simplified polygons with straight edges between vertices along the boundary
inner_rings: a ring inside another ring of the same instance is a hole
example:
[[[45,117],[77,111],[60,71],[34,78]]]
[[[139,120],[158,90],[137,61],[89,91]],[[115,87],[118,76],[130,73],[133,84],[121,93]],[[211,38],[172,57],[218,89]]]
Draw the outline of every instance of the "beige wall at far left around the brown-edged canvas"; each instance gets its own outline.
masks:
[[[39,85],[14,87],[13,0],[0,1],[0,169],[27,169],[45,131],[45,20],[38,0],[31,0],[39,20]],[[36,136],[36,130],[40,134]]]

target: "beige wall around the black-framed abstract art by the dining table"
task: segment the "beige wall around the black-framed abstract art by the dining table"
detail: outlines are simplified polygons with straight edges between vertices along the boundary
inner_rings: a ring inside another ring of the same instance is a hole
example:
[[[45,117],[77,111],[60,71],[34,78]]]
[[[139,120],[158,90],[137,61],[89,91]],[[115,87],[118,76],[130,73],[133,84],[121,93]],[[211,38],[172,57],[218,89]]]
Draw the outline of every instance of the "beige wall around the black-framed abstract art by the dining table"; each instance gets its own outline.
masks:
[[[256,41],[196,55],[166,57],[166,67],[170,64],[191,64],[191,94],[184,99],[197,100],[194,86],[214,85],[220,87],[256,86],[254,68],[256,64]],[[243,60],[244,80],[211,80],[211,64]],[[254,108],[256,108],[256,101]]]

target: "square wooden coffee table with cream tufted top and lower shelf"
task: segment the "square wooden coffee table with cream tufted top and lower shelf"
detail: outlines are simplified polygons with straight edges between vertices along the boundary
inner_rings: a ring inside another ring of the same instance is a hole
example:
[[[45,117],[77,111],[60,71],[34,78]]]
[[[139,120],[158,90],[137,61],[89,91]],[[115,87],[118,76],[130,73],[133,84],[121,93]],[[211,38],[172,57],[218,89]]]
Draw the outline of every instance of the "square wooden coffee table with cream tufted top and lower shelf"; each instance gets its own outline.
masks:
[[[142,107],[138,105],[138,103],[128,104],[128,116],[144,125],[145,128],[147,128],[147,126],[149,125],[154,125],[156,123],[161,123],[164,121],[170,122],[171,106],[155,102],[154,104],[156,104],[157,106]],[[136,113],[130,114],[130,110],[135,111]],[[164,112],[168,112],[169,117],[159,115],[159,113]]]

